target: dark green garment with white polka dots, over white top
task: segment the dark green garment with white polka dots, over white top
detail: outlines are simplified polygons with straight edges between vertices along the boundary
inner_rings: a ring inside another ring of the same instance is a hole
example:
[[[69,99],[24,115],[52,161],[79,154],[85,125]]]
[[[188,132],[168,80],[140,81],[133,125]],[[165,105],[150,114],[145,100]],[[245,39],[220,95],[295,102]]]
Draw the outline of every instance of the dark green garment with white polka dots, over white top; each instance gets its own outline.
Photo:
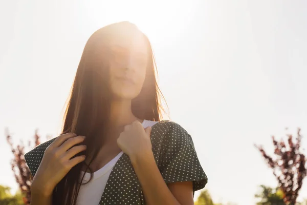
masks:
[[[152,126],[150,138],[153,155],[166,183],[192,181],[193,194],[205,187],[207,176],[199,162],[192,138],[185,129],[176,122],[163,120]],[[33,176],[46,148],[54,140],[25,154]],[[146,204],[140,182],[126,154],[113,167],[99,204]]]

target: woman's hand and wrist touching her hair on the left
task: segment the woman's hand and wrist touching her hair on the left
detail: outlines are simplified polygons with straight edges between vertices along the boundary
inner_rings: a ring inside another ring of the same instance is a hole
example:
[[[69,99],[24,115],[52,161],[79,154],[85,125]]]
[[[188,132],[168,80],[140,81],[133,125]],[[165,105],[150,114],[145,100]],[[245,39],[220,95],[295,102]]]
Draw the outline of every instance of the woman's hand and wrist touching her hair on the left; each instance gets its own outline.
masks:
[[[75,146],[81,143],[84,138],[84,136],[67,133],[55,139],[42,157],[32,181],[31,191],[33,189],[33,191],[36,190],[45,196],[51,196],[58,182],[75,165],[85,159],[85,155],[75,156],[86,149],[85,145]]]

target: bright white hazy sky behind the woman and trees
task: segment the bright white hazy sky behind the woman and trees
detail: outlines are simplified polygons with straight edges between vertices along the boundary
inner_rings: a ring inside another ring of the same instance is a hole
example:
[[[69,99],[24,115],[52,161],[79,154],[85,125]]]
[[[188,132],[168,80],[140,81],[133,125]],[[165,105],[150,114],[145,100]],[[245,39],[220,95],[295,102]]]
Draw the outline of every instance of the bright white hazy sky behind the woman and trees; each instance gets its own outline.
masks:
[[[192,135],[214,202],[254,204],[258,185],[277,186],[253,144],[272,151],[285,127],[307,137],[304,0],[0,1],[0,129],[15,142],[36,128],[56,136],[86,40],[120,20],[151,40],[171,119]],[[0,156],[0,184],[16,190],[5,137]]]

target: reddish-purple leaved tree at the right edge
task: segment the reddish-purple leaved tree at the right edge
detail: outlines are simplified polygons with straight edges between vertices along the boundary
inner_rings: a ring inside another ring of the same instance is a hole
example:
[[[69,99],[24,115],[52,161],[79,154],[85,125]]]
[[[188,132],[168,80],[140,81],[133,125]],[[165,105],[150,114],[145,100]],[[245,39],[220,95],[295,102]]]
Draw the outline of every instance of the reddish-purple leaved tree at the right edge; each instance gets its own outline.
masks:
[[[283,193],[283,201],[286,204],[295,204],[299,190],[302,187],[303,178],[307,171],[305,167],[305,155],[301,152],[301,134],[300,129],[297,131],[296,142],[293,136],[288,134],[288,145],[281,139],[275,140],[272,136],[274,144],[275,160],[267,155],[262,146],[255,147],[260,151],[267,161],[269,167],[273,170],[274,176],[278,180],[278,186]]]

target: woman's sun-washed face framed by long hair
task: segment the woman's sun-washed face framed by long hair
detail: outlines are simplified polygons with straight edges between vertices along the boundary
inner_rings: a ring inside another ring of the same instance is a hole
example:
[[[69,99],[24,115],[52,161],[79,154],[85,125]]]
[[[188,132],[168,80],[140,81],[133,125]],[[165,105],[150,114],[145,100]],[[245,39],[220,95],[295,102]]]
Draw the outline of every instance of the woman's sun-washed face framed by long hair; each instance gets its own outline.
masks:
[[[142,33],[131,40],[110,42],[109,83],[115,99],[133,99],[144,84],[147,68],[147,46]]]

